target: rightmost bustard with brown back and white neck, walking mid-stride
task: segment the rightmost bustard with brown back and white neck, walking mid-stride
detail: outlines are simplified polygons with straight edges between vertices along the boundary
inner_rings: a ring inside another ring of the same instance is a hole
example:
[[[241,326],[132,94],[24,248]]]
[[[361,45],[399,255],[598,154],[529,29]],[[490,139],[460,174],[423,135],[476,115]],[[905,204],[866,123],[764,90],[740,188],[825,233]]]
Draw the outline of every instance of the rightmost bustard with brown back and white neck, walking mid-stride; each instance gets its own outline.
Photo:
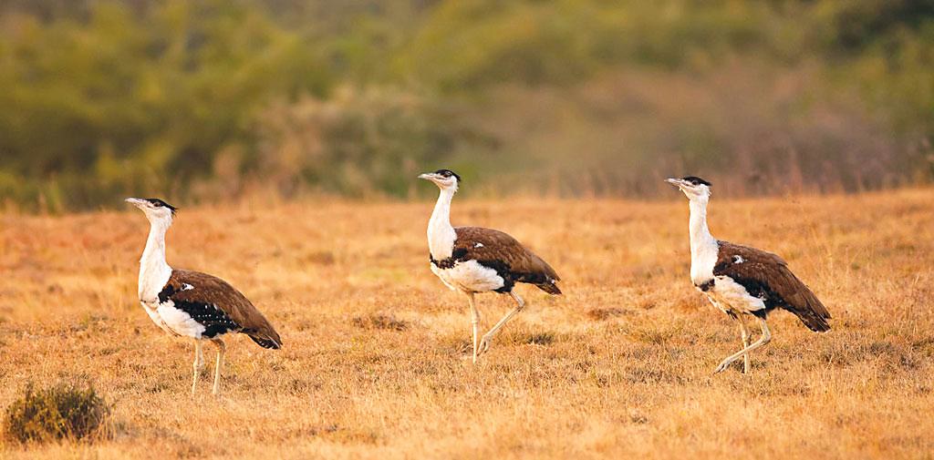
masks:
[[[740,323],[743,349],[727,356],[714,373],[743,358],[743,373],[749,372],[749,353],[771,341],[766,314],[775,307],[796,316],[814,332],[830,330],[830,313],[814,292],[795,276],[783,258],[752,247],[717,241],[707,229],[710,186],[700,177],[668,179],[680,188],[690,204],[691,281],[714,306]],[[755,316],[762,337],[749,344],[749,329],[741,314]]]

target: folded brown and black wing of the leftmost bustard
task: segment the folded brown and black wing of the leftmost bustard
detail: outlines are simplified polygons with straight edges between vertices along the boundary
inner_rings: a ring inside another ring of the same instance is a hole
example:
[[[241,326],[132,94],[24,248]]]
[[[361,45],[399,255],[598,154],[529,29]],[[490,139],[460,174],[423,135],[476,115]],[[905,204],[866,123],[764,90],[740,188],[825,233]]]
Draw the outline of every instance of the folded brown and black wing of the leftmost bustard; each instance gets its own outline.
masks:
[[[197,314],[200,319],[195,320],[205,325],[205,332],[238,330],[264,348],[282,346],[279,334],[265,316],[240,291],[216,276],[173,270],[159,298],[172,300],[192,317]]]

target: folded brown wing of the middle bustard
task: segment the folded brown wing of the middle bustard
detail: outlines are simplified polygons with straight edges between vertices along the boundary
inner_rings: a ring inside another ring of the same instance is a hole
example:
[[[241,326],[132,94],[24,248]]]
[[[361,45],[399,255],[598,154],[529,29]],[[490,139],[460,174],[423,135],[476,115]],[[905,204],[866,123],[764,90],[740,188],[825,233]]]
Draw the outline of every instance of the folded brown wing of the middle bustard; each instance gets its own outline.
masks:
[[[510,287],[512,283],[529,283],[549,294],[561,293],[556,285],[561,278],[555,269],[515,238],[480,227],[458,227],[454,231],[458,235],[454,258],[476,260],[495,269]]]

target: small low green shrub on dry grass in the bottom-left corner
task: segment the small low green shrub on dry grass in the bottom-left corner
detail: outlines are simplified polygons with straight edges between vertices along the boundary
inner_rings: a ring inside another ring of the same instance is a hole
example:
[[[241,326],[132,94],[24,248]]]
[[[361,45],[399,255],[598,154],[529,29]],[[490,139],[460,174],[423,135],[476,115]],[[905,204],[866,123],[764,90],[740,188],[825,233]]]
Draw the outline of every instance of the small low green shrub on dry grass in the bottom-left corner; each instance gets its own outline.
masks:
[[[57,383],[25,394],[7,407],[4,436],[19,442],[89,439],[102,433],[109,414],[104,399],[91,384]]]

